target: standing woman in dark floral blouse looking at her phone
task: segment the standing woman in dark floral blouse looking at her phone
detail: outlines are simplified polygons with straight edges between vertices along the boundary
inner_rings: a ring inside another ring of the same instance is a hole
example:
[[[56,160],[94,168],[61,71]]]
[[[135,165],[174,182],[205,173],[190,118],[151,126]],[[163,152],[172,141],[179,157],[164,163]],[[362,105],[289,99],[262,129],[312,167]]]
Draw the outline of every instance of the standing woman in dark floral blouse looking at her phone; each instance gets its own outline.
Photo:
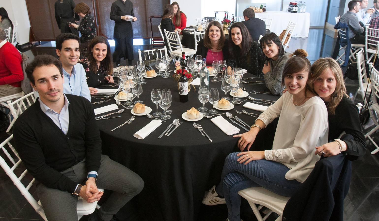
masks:
[[[89,43],[96,36],[96,24],[88,5],[85,3],[78,3],[74,8],[74,12],[81,17],[80,25],[71,23],[70,26],[80,31],[80,54],[84,56]]]

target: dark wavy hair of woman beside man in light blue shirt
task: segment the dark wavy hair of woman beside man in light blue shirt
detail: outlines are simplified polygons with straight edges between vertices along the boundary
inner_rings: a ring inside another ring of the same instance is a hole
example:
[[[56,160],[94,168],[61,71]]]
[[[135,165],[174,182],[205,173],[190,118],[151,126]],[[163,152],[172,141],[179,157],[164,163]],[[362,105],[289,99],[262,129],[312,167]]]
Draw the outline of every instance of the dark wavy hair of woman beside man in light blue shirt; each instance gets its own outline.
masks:
[[[112,69],[113,69],[113,61],[112,61],[112,54],[111,54],[111,46],[109,45],[108,39],[106,39],[103,36],[96,36],[91,40],[91,44],[88,46],[86,57],[88,58],[88,61],[90,63],[90,70],[93,73],[97,73],[97,67],[96,59],[92,55],[92,50],[94,50],[94,47],[96,44],[104,43],[106,44],[106,56],[105,58],[100,61],[100,64],[105,64],[106,74],[112,75]]]

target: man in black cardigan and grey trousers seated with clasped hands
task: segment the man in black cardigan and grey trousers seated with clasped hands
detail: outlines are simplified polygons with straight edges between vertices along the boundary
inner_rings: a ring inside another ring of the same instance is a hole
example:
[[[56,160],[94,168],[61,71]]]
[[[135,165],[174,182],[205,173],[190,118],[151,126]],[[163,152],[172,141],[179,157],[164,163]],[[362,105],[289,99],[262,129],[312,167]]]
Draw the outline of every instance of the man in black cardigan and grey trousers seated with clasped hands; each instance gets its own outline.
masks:
[[[14,146],[37,181],[47,219],[78,220],[77,197],[98,201],[103,195],[99,186],[113,193],[89,220],[111,220],[142,190],[143,180],[101,154],[93,107],[84,97],[63,93],[60,61],[39,55],[25,72],[39,100],[17,118]]]

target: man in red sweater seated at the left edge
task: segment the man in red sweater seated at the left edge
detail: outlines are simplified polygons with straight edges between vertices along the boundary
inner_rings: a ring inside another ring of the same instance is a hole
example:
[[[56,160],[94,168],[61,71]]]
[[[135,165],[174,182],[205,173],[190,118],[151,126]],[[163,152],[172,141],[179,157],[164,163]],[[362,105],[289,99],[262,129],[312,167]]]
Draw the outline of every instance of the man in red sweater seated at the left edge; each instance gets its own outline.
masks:
[[[21,55],[5,38],[5,31],[0,28],[0,97],[21,92],[23,80]]]

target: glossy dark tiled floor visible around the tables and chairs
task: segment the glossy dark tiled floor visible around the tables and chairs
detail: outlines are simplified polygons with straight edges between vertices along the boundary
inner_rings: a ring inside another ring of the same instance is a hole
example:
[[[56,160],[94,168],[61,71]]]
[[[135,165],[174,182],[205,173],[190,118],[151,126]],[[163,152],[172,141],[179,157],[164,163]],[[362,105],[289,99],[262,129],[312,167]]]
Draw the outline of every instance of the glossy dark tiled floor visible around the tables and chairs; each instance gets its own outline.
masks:
[[[313,63],[319,57],[330,56],[334,47],[335,39],[332,34],[327,35],[329,31],[324,29],[311,29],[308,38],[292,38],[287,51],[294,51],[297,48],[307,50],[309,59]],[[145,45],[134,46],[135,59],[138,60],[138,49],[150,49],[147,40],[143,40]],[[114,47],[111,48],[112,52]],[[52,54],[55,56],[55,45],[51,42],[42,42],[42,45],[33,47],[25,51],[27,55],[33,59],[38,54]],[[125,65],[125,61],[121,61],[121,65]],[[358,88],[357,82],[348,81],[348,94],[353,96]],[[355,100],[362,102],[362,99]],[[371,125],[371,126],[370,126]],[[366,126],[372,128],[372,122]],[[0,133],[0,141],[6,139],[8,134]],[[377,136],[374,138],[377,142]],[[366,154],[359,160],[352,162],[352,178],[348,196],[345,198],[344,204],[344,220],[345,221],[376,221],[379,220],[379,155],[371,155],[374,146],[368,143]],[[1,153],[0,153],[1,154]],[[3,155],[2,155],[3,156]],[[20,168],[23,168],[20,165]],[[16,169],[16,174],[23,172],[22,169]],[[31,194],[37,198],[35,188],[30,190]],[[216,205],[213,207],[202,205],[200,221],[224,221],[227,216],[225,204]],[[128,213],[128,212],[126,212]],[[122,214],[122,213],[121,213]],[[247,202],[243,202],[241,214],[245,221],[256,220]],[[123,215],[121,215],[123,217]],[[120,218],[121,218],[120,217]],[[274,220],[276,217],[271,215],[268,220]],[[85,219],[83,217],[81,220]],[[25,221],[25,220],[42,220],[41,217],[34,211],[33,207],[20,194],[20,191],[13,185],[9,177],[0,170],[0,221]],[[121,219],[130,220],[130,219]],[[134,219],[133,219],[134,220]]]

